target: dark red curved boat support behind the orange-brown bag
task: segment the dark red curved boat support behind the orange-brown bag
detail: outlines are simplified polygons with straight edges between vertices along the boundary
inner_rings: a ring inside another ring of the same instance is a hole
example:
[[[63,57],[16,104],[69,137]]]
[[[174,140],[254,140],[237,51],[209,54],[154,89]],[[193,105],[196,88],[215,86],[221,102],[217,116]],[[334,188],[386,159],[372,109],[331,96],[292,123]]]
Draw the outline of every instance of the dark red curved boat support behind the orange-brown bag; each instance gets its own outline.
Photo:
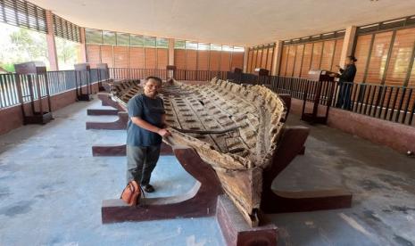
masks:
[[[216,201],[222,190],[212,167],[187,146],[174,146],[173,152],[182,167],[197,180],[195,186],[183,195],[145,199],[145,207],[129,207],[120,199],[103,201],[101,211],[104,224],[215,215]],[[140,201],[140,204],[143,203],[143,200]]]

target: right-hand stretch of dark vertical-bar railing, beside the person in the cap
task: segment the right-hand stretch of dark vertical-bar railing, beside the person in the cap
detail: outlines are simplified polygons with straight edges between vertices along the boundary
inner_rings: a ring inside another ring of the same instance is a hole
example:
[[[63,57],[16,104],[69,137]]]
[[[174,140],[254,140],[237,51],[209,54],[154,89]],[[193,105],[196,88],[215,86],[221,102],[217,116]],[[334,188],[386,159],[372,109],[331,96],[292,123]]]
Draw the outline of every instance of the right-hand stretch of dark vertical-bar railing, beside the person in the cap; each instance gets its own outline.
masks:
[[[253,74],[228,73],[236,83],[267,85],[278,94],[314,101],[320,93],[320,104],[346,111],[415,126],[415,88],[368,83],[312,81],[305,78],[278,76],[258,77]],[[335,85],[333,86],[333,83]],[[329,100],[332,98],[332,100]]]

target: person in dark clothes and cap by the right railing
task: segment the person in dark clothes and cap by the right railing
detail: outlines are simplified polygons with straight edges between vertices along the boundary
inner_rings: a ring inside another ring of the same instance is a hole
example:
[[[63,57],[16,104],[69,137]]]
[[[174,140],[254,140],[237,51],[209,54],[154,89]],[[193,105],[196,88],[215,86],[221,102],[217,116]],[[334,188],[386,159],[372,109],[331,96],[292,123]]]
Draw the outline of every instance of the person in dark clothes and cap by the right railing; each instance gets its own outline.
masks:
[[[339,78],[339,90],[336,107],[347,111],[350,111],[353,108],[351,103],[351,93],[354,77],[356,76],[356,65],[354,65],[356,61],[357,59],[353,55],[347,56],[345,68],[342,69],[340,66],[336,65],[339,72],[332,73],[330,75],[332,77]]]

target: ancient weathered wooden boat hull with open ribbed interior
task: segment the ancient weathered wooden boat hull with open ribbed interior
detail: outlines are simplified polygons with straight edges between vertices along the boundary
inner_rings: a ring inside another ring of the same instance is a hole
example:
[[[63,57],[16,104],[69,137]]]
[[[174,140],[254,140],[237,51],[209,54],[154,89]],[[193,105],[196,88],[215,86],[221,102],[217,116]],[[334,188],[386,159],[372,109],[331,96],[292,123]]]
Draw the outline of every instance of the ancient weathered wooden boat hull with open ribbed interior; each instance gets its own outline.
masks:
[[[138,81],[112,85],[113,99],[125,109],[142,93]],[[172,136],[170,145],[187,145],[217,173],[225,193],[249,225],[258,225],[262,173],[272,164],[284,127],[286,106],[266,86],[241,86],[213,78],[189,85],[171,79],[160,94]]]

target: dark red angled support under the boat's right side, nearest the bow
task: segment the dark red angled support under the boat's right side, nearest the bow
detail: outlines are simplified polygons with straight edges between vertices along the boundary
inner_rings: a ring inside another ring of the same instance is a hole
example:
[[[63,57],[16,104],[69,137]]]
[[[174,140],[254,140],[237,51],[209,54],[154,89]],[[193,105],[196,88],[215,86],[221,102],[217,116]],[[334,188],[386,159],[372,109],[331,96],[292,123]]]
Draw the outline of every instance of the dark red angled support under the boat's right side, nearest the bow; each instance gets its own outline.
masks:
[[[352,193],[342,189],[312,192],[273,191],[272,181],[302,151],[309,135],[307,127],[286,127],[272,165],[264,169],[261,209],[266,213],[341,209],[352,206]]]

